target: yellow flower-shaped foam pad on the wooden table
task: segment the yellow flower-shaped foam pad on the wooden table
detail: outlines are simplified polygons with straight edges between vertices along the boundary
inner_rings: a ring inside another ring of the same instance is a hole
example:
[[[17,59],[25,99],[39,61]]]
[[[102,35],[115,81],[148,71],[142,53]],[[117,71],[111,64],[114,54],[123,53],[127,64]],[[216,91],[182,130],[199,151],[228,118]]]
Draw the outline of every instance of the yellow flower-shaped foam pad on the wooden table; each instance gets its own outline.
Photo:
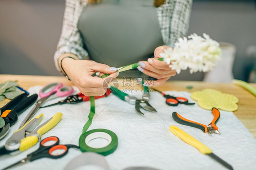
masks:
[[[215,89],[206,88],[191,93],[191,98],[197,101],[198,106],[211,110],[216,107],[225,111],[236,111],[238,98],[232,94],[223,93]]]

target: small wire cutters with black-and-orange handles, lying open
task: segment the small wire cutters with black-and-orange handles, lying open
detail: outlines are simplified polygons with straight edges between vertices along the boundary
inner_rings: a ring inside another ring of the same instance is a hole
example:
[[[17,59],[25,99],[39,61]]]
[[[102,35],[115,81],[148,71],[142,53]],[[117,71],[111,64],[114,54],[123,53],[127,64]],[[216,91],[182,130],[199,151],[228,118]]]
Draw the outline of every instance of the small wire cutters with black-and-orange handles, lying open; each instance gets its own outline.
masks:
[[[218,127],[215,125],[215,123],[217,123],[217,121],[220,119],[220,111],[217,108],[213,107],[211,109],[211,112],[212,112],[214,118],[208,126],[198,123],[196,121],[190,121],[190,120],[180,116],[177,112],[173,112],[172,116],[173,116],[174,121],[176,121],[182,125],[187,125],[187,126],[192,126],[192,127],[198,128],[205,133],[208,132],[210,135],[212,133],[216,133],[216,134],[220,135],[220,131],[218,131]]]

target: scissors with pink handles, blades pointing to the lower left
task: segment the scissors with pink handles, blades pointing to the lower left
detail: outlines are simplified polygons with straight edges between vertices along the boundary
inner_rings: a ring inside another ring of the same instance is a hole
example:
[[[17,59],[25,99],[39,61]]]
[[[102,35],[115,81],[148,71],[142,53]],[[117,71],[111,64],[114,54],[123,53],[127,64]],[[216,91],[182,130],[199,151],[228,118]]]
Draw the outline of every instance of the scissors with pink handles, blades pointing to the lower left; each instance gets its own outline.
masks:
[[[46,102],[46,100],[51,100],[57,97],[65,97],[69,96],[74,92],[74,89],[71,86],[63,86],[62,83],[51,83],[43,87],[40,92],[39,96],[41,99],[39,99],[34,108],[31,110],[31,112],[28,113],[28,115],[25,117],[25,119],[21,122],[19,129],[26,124],[38,111],[38,109]]]

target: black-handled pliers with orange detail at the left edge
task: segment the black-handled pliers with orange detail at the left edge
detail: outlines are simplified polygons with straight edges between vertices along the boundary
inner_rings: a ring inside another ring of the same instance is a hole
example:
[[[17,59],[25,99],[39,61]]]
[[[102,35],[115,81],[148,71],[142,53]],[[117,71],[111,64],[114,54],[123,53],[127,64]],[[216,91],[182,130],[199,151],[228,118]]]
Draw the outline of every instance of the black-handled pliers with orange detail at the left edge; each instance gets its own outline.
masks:
[[[22,93],[12,99],[4,107],[0,108],[0,139],[2,139],[18,120],[18,116],[36,102],[37,94],[27,97],[28,93]]]

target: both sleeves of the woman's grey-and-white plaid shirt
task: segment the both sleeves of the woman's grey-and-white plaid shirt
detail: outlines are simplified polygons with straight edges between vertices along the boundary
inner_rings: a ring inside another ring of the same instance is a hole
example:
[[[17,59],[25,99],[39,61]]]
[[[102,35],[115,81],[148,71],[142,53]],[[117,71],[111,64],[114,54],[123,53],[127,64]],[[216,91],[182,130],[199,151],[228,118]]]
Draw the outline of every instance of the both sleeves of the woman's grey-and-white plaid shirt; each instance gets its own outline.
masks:
[[[56,68],[58,58],[63,53],[73,53],[80,59],[88,59],[88,53],[83,48],[82,38],[77,28],[77,22],[87,0],[66,0],[61,37],[54,55]],[[179,37],[187,34],[192,0],[166,0],[164,5],[156,8],[164,44],[174,47]]]

